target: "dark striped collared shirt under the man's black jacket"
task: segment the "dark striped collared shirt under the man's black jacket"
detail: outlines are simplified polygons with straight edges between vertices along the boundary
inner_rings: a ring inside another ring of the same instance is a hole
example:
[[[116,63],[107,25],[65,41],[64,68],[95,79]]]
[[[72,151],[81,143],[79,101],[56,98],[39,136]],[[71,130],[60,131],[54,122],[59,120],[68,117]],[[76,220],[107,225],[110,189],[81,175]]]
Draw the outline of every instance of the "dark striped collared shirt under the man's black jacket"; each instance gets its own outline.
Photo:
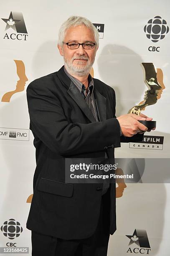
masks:
[[[86,100],[87,105],[89,106],[92,114],[94,115],[94,118],[96,122],[99,121],[99,116],[97,113],[97,108],[96,108],[96,103],[95,103],[95,98],[94,98],[94,81],[93,78],[91,77],[91,74],[89,74],[88,81],[89,81],[89,86],[86,92],[86,88],[83,83],[81,83],[78,79],[75,77],[71,76],[64,67],[64,72],[67,74],[67,76],[71,79],[71,81],[76,85],[76,87],[79,89],[81,95],[84,97],[84,100]],[[105,159],[107,158],[107,154],[105,153]],[[107,192],[107,189],[109,188],[109,182],[104,179],[103,187],[102,187],[102,195],[104,195]]]

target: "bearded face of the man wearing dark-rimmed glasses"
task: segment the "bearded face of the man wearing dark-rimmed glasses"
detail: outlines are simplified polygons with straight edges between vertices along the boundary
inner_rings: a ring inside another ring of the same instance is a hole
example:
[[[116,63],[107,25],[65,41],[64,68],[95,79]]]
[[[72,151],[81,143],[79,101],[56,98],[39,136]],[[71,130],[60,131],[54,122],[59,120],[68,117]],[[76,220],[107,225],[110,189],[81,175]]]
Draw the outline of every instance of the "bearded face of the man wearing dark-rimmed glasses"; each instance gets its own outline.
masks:
[[[71,27],[66,31],[64,42],[93,42],[95,43],[93,32],[84,25]],[[84,76],[89,74],[90,69],[94,63],[96,55],[96,46],[93,49],[84,49],[82,45],[78,49],[71,50],[66,44],[63,48],[58,45],[61,56],[64,58],[64,64],[67,71],[77,76]]]

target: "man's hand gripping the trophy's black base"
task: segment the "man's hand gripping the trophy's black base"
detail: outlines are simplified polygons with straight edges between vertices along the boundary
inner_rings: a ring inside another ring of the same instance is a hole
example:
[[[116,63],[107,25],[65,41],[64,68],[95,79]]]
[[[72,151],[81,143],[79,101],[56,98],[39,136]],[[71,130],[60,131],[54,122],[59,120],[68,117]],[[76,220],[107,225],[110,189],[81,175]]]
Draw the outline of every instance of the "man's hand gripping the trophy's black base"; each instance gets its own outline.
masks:
[[[144,133],[145,131],[148,131],[147,127],[142,123],[138,122],[138,120],[151,121],[152,118],[149,118],[143,114],[127,114],[119,116],[117,120],[119,121],[120,127],[122,129],[122,135],[124,135],[125,137],[132,137],[137,133]]]

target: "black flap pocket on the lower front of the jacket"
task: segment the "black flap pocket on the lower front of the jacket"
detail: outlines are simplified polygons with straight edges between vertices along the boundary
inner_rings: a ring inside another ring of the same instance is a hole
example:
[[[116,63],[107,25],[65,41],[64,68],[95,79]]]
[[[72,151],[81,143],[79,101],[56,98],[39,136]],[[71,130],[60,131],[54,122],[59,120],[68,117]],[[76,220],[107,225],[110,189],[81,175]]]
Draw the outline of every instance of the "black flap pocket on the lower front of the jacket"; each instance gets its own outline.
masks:
[[[37,189],[54,195],[72,197],[74,185],[41,177]]]

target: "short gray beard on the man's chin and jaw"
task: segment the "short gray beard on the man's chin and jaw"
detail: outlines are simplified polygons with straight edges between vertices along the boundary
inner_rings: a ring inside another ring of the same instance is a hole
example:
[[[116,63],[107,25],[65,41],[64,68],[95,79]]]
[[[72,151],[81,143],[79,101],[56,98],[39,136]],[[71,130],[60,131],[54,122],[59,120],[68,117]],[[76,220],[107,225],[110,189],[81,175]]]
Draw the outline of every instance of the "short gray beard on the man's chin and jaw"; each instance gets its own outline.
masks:
[[[82,59],[85,59],[85,58],[82,58]],[[94,63],[94,59],[92,59],[91,61],[88,60],[85,67],[84,66],[82,66],[82,67],[74,66],[72,64],[73,60],[74,60],[74,58],[71,59],[71,61],[68,61],[66,58],[64,58],[64,65],[65,65],[67,71],[69,72],[69,74],[73,74],[78,77],[82,77],[82,76],[86,76],[90,73],[91,67],[93,66],[93,63]],[[79,64],[81,64],[81,62]]]

